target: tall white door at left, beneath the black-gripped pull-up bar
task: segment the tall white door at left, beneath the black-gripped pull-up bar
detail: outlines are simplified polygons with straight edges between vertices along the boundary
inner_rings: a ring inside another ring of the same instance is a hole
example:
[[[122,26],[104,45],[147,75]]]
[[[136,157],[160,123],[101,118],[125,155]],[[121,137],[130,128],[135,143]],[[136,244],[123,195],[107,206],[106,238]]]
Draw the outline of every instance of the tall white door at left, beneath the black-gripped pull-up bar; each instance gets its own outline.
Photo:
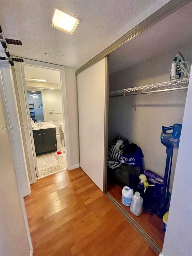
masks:
[[[13,83],[13,75],[9,62],[1,61],[1,83],[0,91],[5,111],[6,122],[10,132],[10,143],[15,164],[16,177],[21,196],[25,197],[31,193],[29,176],[27,173],[26,158],[24,153],[19,113],[16,106],[16,94]],[[4,145],[6,150],[6,145]],[[8,171],[8,170],[7,170]],[[7,188],[8,189],[8,188]]]

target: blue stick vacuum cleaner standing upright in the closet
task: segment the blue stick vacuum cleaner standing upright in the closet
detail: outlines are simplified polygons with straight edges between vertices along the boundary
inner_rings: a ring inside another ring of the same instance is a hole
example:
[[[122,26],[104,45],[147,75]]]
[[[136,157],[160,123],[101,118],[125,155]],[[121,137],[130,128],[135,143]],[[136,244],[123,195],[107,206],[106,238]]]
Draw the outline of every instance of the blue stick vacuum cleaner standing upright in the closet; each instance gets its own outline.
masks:
[[[155,209],[157,216],[160,218],[162,218],[165,212],[167,212],[166,206],[169,201],[169,187],[170,187],[173,149],[179,148],[181,129],[182,129],[182,124],[174,124],[173,126],[169,126],[169,127],[162,126],[161,143],[164,146],[166,146],[167,159],[166,159],[166,165],[165,165],[163,191],[162,191],[159,205]],[[170,130],[173,130],[173,132],[167,132]]]

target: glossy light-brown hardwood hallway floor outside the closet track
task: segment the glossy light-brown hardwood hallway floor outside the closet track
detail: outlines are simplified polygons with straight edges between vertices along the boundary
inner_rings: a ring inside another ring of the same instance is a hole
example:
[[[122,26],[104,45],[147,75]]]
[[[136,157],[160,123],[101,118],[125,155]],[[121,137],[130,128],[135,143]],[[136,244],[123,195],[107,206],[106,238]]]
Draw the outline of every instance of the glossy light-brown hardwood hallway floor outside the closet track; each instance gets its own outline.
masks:
[[[157,255],[81,168],[39,179],[24,201],[34,256]]]

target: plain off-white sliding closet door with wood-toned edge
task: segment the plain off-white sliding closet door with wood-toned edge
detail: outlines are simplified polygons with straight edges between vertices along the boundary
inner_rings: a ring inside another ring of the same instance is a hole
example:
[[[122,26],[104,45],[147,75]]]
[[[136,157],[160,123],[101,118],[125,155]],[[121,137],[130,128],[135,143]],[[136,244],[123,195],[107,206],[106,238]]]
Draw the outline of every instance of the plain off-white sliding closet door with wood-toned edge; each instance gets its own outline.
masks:
[[[77,75],[80,167],[105,192],[108,75],[107,57]]]

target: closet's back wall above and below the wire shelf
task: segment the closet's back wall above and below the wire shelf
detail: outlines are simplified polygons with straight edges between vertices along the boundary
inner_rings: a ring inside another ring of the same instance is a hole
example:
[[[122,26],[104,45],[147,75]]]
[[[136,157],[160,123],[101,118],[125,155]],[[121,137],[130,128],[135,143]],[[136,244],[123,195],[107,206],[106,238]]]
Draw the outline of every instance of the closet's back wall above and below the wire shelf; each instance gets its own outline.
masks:
[[[110,75],[109,91],[160,83],[170,80],[169,68],[176,53],[180,51],[191,63],[192,47],[183,45],[167,53],[148,59],[132,67]],[[182,123],[187,90],[129,96],[137,111],[127,98],[109,98],[110,143],[117,134],[139,145],[144,154],[145,168],[164,176],[166,147],[161,144],[161,127]],[[171,187],[176,166],[177,150],[174,150]]]

